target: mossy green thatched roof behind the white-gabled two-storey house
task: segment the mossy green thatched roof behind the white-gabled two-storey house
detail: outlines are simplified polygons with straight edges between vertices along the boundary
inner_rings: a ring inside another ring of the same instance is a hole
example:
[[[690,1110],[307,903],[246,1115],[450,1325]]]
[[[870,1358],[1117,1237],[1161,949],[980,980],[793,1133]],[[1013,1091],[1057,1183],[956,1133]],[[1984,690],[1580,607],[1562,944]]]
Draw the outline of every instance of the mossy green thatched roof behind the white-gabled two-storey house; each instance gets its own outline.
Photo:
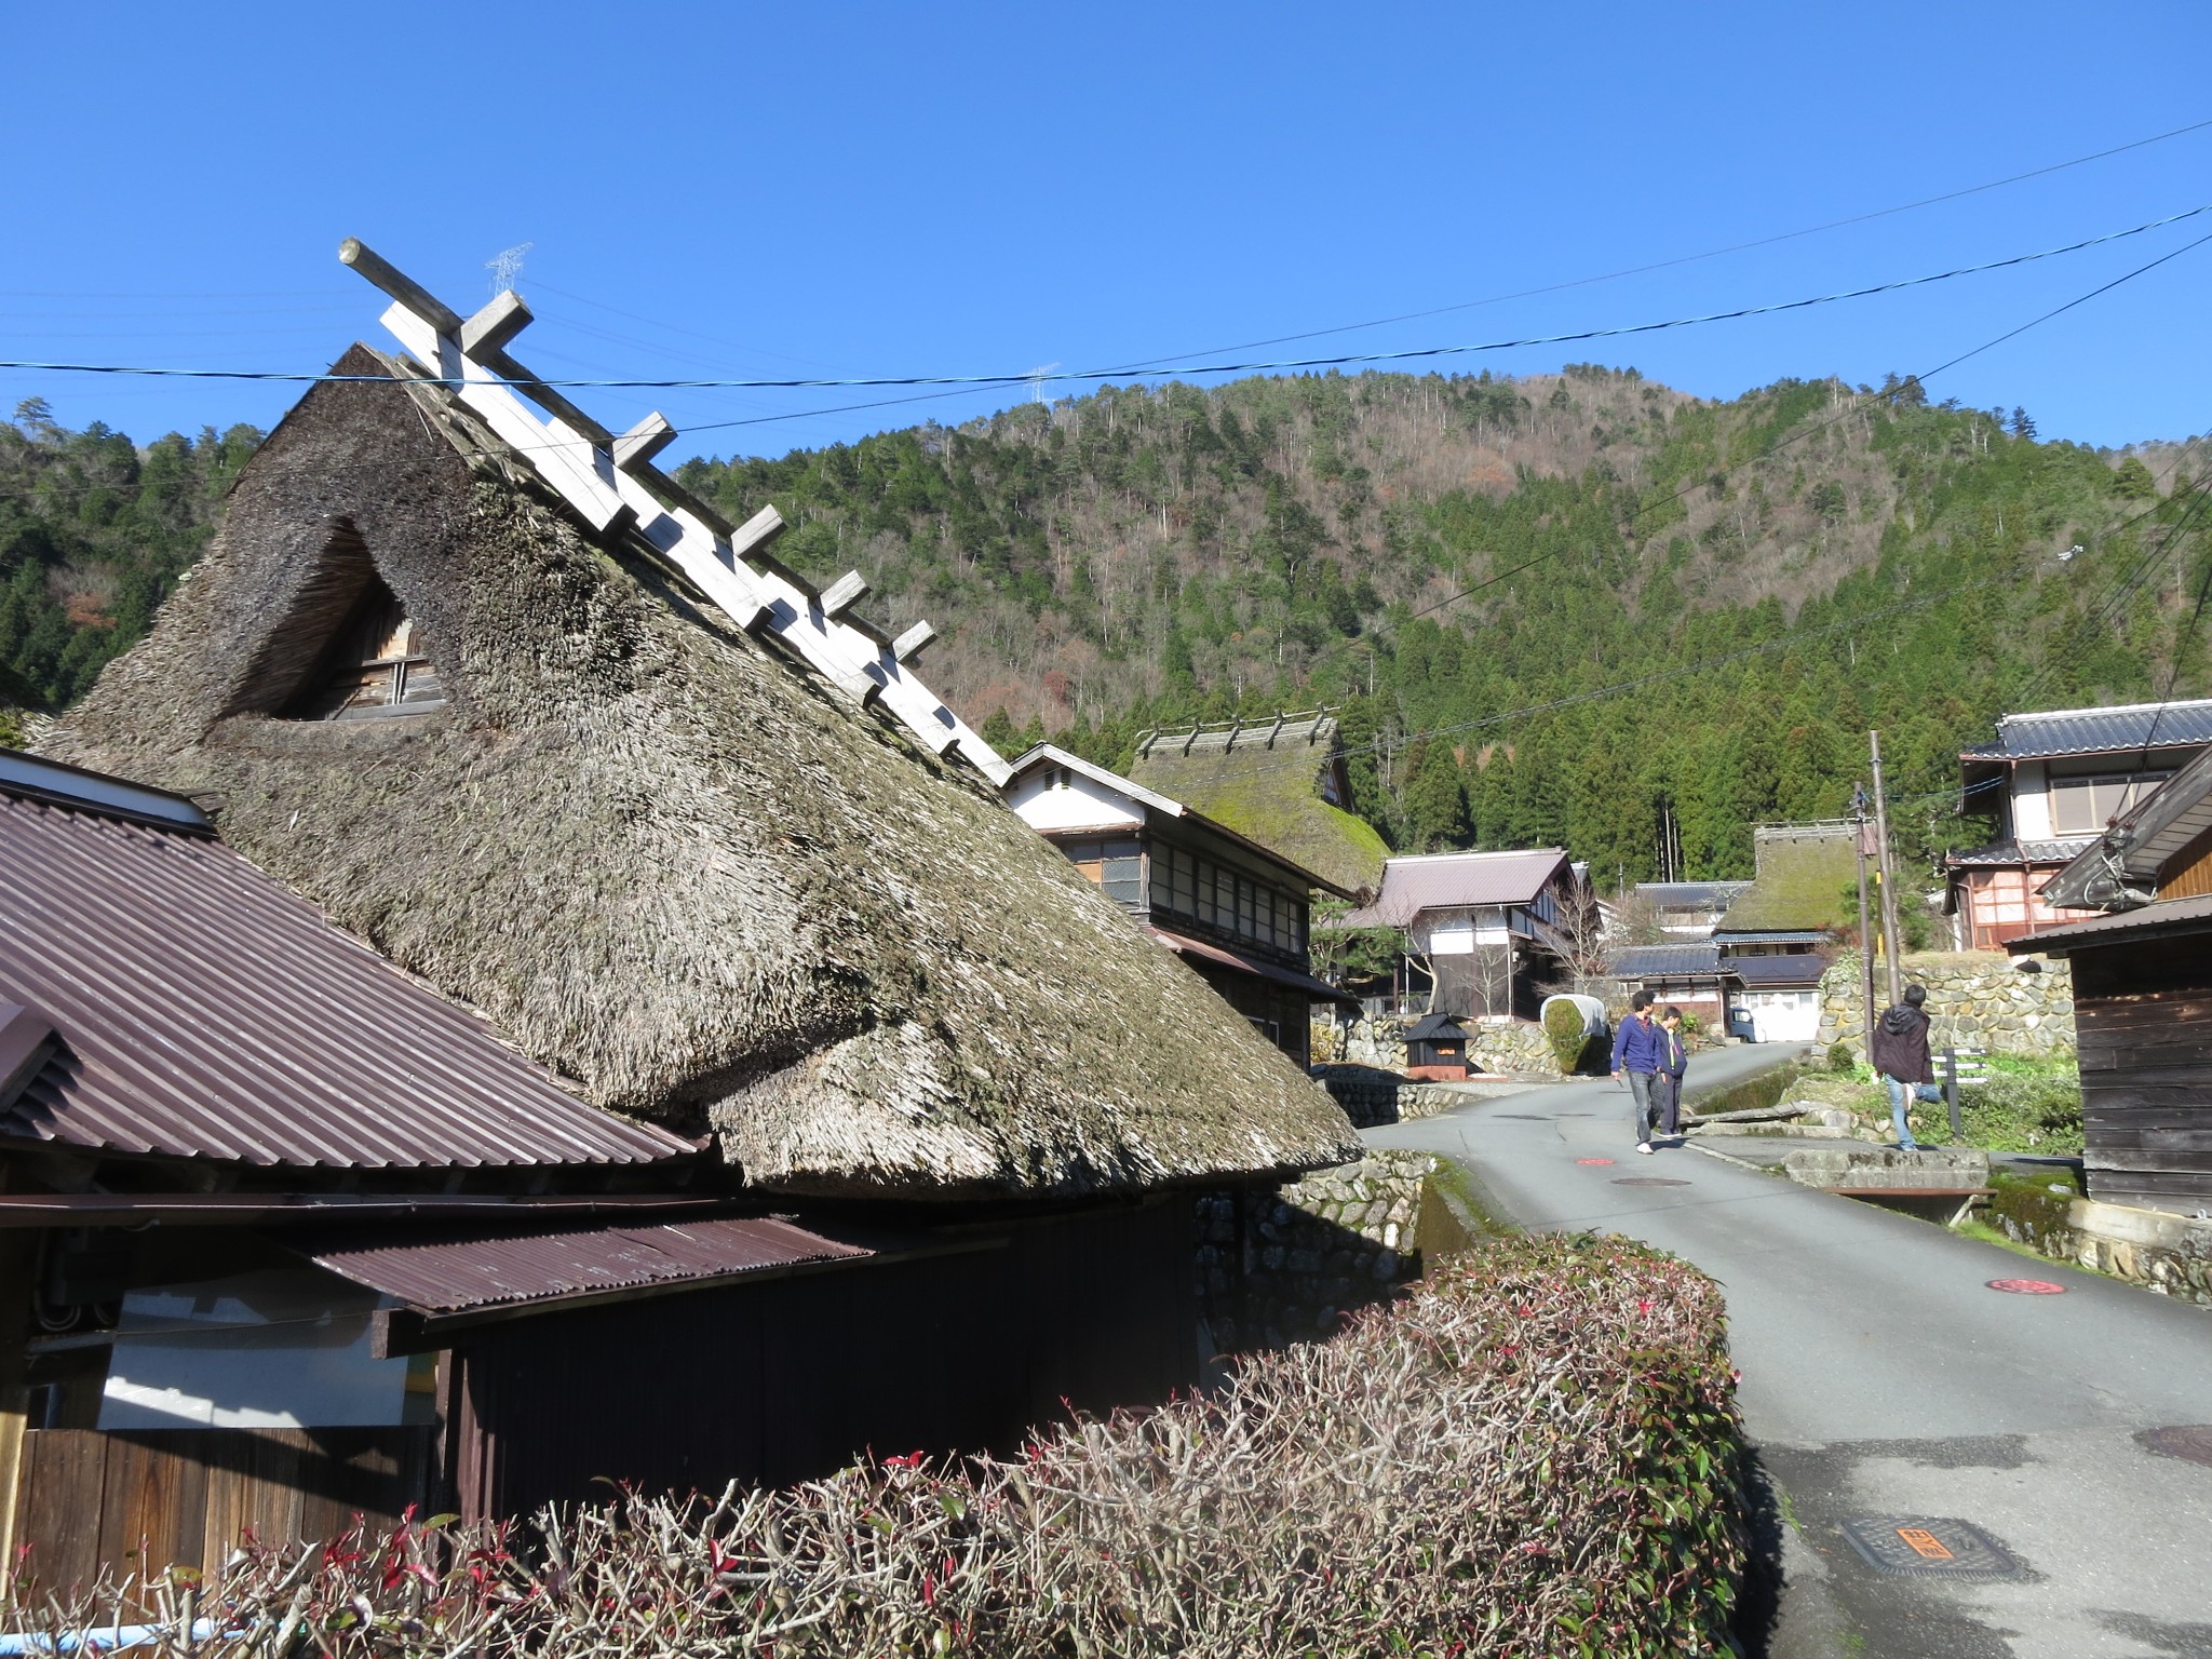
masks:
[[[1383,887],[1383,836],[1323,799],[1343,799],[1343,745],[1327,710],[1146,732],[1128,774],[1334,887],[1369,898]]]

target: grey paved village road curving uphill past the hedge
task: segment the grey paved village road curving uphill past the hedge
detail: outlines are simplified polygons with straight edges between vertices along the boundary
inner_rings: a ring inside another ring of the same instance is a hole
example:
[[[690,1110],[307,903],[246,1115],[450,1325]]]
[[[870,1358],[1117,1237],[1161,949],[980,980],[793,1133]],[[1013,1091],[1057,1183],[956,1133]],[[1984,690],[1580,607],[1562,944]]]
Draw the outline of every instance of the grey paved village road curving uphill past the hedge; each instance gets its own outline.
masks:
[[[1701,1055],[1690,1093],[1776,1060]],[[1781,1517],[1772,1659],[2212,1657],[2212,1467],[2135,1438],[2212,1425],[2212,1312],[1694,1148],[1637,1157],[1630,1121],[1610,1082],[1551,1084],[1365,1139],[1458,1159],[1522,1225],[1644,1239],[1721,1281]],[[2066,1294],[1986,1287],[2008,1276]],[[1876,1575],[1840,1533],[1867,1515],[1969,1520],[2033,1577]]]

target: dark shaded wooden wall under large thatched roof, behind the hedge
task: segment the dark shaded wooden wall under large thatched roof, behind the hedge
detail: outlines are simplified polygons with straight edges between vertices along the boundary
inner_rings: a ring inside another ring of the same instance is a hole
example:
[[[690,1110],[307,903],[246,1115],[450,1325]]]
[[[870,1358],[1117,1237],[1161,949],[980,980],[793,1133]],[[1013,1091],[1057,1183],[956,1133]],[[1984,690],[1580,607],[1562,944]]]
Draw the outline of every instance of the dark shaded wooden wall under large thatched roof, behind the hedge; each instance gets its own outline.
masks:
[[[854,1455],[1011,1449],[1197,1378],[1190,1203],[1031,1219],[993,1250],[487,1327],[460,1354],[465,1515],[719,1491]]]

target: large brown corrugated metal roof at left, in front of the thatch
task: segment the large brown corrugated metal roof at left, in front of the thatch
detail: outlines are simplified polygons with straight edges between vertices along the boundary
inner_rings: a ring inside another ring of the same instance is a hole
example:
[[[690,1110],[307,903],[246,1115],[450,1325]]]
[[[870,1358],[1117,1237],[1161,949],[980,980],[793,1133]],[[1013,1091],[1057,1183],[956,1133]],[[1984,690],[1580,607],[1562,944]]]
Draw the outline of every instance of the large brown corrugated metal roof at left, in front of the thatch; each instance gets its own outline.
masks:
[[[0,1000],[66,1051],[0,1137],[336,1168],[692,1150],[575,1099],[201,830],[64,805],[51,772],[0,776]]]

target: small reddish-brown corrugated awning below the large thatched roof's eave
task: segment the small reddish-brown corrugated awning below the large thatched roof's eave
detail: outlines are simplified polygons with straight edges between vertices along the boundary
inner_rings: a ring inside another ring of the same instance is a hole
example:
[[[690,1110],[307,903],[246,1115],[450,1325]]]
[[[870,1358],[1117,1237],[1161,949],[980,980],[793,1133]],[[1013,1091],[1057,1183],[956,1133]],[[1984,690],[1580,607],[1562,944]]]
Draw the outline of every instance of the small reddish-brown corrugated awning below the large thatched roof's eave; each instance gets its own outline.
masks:
[[[389,1243],[389,1237],[321,1245],[310,1256],[356,1285],[436,1316],[876,1254],[774,1217],[549,1228],[405,1243]]]

